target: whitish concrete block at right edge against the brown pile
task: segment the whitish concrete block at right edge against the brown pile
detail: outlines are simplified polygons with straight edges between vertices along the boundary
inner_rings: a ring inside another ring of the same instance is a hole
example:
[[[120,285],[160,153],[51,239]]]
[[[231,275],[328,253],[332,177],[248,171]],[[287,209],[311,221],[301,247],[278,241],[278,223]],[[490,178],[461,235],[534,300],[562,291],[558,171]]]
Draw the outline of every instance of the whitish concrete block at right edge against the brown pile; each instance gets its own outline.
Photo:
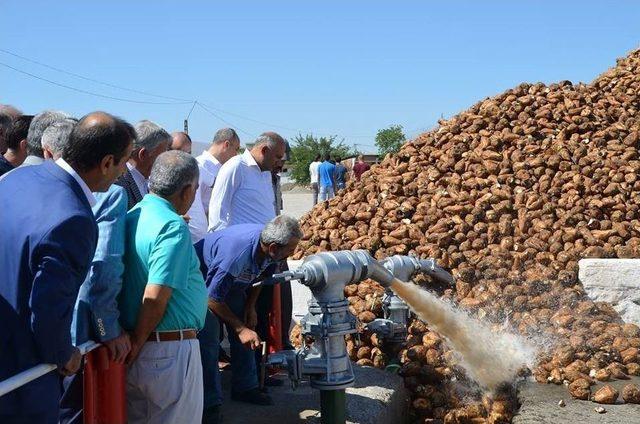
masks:
[[[582,259],[578,278],[592,300],[611,303],[622,319],[640,325],[640,259]]]

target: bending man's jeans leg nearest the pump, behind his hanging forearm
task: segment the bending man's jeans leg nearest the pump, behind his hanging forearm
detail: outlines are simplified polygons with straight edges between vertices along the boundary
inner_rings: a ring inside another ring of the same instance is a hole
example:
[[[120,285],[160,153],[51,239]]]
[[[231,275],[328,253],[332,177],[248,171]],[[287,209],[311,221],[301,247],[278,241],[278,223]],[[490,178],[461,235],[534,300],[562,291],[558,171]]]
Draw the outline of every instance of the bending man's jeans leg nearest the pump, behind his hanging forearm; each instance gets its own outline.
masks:
[[[244,320],[247,291],[236,288],[229,291],[225,303],[240,320]],[[244,392],[258,387],[258,374],[253,350],[240,343],[236,332],[227,326],[231,346],[231,391]]]

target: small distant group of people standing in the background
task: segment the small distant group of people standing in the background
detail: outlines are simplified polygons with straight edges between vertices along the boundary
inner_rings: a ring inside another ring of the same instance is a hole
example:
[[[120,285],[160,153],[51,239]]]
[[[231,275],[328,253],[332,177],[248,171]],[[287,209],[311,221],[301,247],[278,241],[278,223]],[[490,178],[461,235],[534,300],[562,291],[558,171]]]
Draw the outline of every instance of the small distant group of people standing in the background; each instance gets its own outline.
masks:
[[[320,159],[323,161],[320,161]],[[353,178],[360,181],[360,177],[368,171],[370,165],[364,161],[362,155],[358,155],[356,163],[351,169]],[[318,201],[333,199],[336,193],[344,189],[347,185],[349,172],[342,163],[340,156],[331,158],[329,153],[324,156],[317,155],[313,162],[309,164],[309,175],[311,177],[311,190],[313,192],[313,204]]]

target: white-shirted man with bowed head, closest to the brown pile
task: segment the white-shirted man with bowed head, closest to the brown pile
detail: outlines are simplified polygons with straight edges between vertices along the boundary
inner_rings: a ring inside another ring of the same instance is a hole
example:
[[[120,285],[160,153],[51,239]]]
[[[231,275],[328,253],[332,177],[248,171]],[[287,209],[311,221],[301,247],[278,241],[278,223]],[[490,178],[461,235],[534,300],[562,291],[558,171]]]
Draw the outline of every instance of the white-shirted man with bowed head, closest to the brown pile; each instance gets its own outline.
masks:
[[[209,231],[235,224],[266,224],[275,218],[271,170],[285,152],[284,139],[266,132],[251,150],[220,168],[209,202]]]

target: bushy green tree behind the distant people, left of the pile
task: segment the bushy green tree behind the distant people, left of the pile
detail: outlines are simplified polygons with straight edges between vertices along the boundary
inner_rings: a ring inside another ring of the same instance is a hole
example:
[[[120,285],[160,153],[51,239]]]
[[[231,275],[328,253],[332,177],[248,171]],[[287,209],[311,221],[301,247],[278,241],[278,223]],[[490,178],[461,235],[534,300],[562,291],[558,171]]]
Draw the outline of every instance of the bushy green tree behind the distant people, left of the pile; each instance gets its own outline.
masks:
[[[298,134],[291,142],[291,178],[298,184],[309,184],[309,164],[317,155],[324,157],[329,153],[332,158],[345,158],[353,155],[344,140],[337,141],[337,136],[314,137],[313,134]]]

